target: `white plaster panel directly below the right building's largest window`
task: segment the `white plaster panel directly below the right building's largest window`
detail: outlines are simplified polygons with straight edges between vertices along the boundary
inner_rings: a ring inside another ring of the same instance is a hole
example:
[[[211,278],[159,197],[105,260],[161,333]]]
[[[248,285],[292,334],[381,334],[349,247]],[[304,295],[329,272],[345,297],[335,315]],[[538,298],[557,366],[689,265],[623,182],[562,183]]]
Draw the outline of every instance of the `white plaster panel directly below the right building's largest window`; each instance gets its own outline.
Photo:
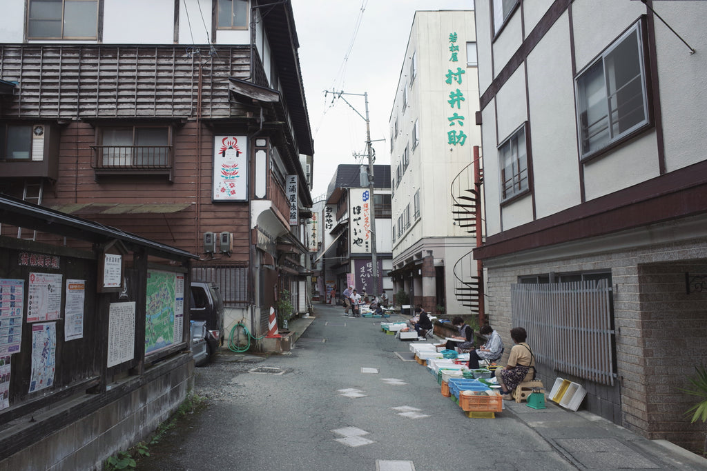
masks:
[[[587,200],[658,177],[658,143],[655,130],[641,134],[629,145],[592,160],[584,167]]]

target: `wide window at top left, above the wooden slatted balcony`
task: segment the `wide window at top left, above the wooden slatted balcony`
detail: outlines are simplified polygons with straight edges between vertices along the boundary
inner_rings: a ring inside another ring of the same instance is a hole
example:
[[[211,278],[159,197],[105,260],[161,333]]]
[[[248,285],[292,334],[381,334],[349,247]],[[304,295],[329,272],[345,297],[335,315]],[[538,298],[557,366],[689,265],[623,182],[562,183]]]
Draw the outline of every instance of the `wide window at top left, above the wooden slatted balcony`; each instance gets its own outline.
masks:
[[[30,39],[97,39],[98,0],[30,0],[27,36]]]

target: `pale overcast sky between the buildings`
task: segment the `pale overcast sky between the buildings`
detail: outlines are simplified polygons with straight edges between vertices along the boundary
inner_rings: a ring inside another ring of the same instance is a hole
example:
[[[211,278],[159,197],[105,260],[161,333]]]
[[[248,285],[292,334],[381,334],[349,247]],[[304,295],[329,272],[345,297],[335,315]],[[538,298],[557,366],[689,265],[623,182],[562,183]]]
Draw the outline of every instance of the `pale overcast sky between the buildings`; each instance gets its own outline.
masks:
[[[361,162],[354,153],[366,150],[366,121],[342,100],[332,106],[325,90],[368,93],[370,138],[381,140],[375,163],[390,164],[388,118],[415,11],[473,8],[474,0],[292,0],[314,138],[312,198],[326,193],[337,165]],[[366,116],[363,96],[344,97]]]

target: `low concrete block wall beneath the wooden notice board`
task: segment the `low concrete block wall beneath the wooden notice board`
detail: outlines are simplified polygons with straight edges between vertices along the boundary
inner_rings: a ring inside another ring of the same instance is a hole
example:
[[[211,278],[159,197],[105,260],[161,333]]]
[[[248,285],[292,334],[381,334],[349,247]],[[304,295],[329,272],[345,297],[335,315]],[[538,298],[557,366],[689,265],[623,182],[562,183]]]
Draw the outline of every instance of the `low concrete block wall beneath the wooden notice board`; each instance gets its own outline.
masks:
[[[0,461],[2,470],[89,470],[145,439],[194,387],[190,354],[166,360],[142,376],[131,376],[101,394],[83,394],[22,417],[0,434],[0,446],[28,446]],[[47,430],[52,430],[47,433]]]

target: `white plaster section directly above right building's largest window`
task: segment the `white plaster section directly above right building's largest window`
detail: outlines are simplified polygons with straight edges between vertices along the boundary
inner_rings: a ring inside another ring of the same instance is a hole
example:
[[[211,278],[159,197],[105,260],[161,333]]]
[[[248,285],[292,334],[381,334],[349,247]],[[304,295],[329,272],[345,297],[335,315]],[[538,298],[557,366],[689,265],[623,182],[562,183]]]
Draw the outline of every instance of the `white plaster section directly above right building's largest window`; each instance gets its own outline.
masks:
[[[640,1],[621,1],[620,4],[616,0],[574,1],[572,23],[577,71],[585,68],[644,13],[645,6]]]

